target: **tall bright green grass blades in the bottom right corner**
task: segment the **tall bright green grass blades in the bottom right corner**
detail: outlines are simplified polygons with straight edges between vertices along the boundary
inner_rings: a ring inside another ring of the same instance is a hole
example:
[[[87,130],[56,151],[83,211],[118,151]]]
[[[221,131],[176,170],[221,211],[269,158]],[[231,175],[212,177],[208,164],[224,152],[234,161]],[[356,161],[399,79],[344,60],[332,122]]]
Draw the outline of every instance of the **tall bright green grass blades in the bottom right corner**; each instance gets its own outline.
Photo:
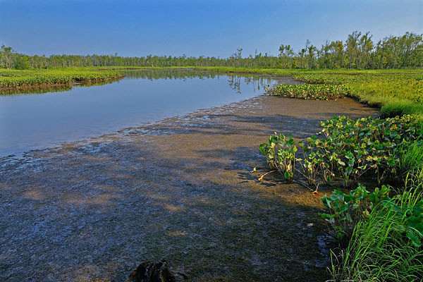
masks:
[[[413,209],[422,200],[421,189],[404,192],[396,204]],[[405,221],[392,206],[375,208],[367,221],[357,224],[348,248],[332,253],[331,281],[422,281],[423,248],[404,235]]]

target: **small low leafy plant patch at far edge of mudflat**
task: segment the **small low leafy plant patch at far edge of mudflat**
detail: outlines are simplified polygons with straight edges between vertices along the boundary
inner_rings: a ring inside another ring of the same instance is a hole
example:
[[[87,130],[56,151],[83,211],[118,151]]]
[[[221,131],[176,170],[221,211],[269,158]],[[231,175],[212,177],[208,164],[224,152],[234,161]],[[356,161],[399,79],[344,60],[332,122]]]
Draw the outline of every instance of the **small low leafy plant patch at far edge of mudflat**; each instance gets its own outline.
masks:
[[[274,96],[289,98],[328,100],[343,98],[350,93],[350,89],[344,85],[282,84],[273,88],[268,87],[266,92]]]

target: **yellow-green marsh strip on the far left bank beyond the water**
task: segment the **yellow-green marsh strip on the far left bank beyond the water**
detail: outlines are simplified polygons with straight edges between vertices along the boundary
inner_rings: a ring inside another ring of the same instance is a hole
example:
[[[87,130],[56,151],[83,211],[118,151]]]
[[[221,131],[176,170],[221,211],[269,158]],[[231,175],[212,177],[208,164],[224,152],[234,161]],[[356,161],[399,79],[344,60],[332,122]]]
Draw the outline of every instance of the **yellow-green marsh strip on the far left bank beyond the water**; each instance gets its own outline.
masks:
[[[72,85],[75,82],[96,82],[121,78],[118,71],[91,71],[85,69],[6,70],[0,69],[0,88],[37,85]]]

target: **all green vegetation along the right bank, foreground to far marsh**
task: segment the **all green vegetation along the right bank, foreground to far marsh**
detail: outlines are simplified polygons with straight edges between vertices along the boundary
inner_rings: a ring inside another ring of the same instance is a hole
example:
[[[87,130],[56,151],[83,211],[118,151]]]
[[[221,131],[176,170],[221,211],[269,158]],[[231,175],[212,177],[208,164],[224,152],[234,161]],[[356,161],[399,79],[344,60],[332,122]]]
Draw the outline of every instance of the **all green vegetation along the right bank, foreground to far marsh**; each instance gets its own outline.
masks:
[[[332,253],[331,281],[419,281],[423,277],[422,71],[284,71],[321,86],[278,86],[269,90],[271,94],[329,99],[325,90],[331,85],[345,87],[346,95],[361,102],[381,106],[381,118],[333,117],[321,123],[319,138],[296,143],[290,135],[287,147],[281,144],[286,137],[275,134],[260,146],[270,168],[287,180],[294,180],[296,172],[316,190],[337,181],[343,190],[358,186],[321,198],[328,212],[320,215],[341,247]],[[295,152],[302,152],[302,158]],[[286,161],[287,154],[297,166]],[[360,182],[386,185],[369,192]]]

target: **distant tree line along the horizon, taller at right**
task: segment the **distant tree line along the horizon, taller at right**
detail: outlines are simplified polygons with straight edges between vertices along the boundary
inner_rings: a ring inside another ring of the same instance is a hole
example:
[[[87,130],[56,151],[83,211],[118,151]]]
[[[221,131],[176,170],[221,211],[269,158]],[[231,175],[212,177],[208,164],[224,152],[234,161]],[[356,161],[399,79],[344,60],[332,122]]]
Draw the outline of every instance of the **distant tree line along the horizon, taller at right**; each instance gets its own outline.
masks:
[[[369,32],[354,31],[345,42],[326,40],[321,47],[309,40],[305,48],[295,52],[290,45],[281,44],[278,56],[255,52],[242,56],[238,48],[229,58],[209,56],[141,56],[114,55],[51,55],[27,56],[12,47],[1,45],[0,68],[66,68],[83,66],[231,66],[244,68],[421,68],[423,67],[423,35],[406,32],[402,36],[385,37],[378,42]]]

